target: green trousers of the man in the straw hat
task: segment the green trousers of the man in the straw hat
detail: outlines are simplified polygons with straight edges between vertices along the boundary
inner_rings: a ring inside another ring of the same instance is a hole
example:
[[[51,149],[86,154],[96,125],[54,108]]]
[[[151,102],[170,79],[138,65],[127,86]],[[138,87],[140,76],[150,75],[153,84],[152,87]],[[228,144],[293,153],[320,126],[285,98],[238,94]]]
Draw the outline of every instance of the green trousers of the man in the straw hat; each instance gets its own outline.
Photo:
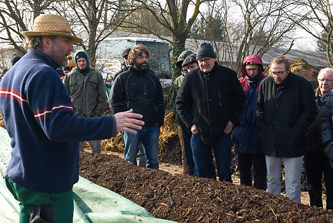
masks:
[[[5,183],[19,201],[20,223],[73,223],[73,190],[44,193],[26,189],[5,174]]]

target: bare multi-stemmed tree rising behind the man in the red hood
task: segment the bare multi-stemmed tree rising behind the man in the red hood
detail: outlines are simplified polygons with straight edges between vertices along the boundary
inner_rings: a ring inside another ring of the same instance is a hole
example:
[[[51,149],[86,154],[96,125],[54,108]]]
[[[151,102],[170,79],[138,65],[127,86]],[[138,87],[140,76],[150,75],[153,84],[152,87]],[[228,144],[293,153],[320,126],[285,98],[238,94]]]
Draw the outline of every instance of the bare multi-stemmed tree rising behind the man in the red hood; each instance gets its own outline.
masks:
[[[250,54],[262,57],[272,47],[285,46],[291,41],[291,31],[295,22],[302,18],[290,20],[285,9],[294,9],[291,0],[234,0],[240,7],[243,17],[243,38],[237,52],[234,70],[240,73],[242,62]]]

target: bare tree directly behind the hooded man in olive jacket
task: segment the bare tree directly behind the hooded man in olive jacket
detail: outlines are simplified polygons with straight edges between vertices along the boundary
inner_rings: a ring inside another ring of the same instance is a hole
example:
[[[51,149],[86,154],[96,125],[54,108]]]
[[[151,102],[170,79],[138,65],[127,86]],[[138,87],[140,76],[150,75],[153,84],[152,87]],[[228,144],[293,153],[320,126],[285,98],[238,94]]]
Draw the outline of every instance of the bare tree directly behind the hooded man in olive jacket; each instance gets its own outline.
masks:
[[[80,46],[87,51],[90,66],[96,63],[98,44],[115,31],[119,24],[135,10],[123,9],[122,1],[110,0],[72,0],[70,2],[65,0],[61,6],[62,8],[57,6],[53,9],[68,18],[73,32],[83,37],[84,43]]]

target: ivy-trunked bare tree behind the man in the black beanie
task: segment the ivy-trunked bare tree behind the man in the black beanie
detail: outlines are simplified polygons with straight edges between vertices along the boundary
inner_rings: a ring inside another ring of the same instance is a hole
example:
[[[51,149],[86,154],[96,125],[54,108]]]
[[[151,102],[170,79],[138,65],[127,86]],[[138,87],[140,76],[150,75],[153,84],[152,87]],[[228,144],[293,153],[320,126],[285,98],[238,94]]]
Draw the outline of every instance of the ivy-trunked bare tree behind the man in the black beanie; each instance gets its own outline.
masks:
[[[180,72],[176,69],[175,62],[179,54],[185,49],[185,41],[191,30],[191,27],[199,14],[199,6],[208,0],[133,0],[135,6],[140,8],[140,12],[144,9],[149,11],[159,23],[160,27],[167,29],[171,34],[171,40],[162,36],[156,29],[152,29],[151,23],[147,23],[139,16],[126,20],[122,25],[123,28],[136,28],[137,30],[145,30],[145,33],[151,33],[158,36],[162,40],[171,42],[172,52],[172,79],[175,79]],[[189,12],[189,7],[193,10]],[[190,15],[187,19],[187,15]],[[160,28],[161,29],[161,28]]]

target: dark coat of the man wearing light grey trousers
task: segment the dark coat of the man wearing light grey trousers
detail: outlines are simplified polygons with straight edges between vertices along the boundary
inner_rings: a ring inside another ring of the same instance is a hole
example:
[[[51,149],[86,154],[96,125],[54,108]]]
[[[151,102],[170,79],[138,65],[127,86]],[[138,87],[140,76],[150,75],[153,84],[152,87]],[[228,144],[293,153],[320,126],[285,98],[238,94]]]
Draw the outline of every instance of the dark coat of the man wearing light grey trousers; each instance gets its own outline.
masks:
[[[306,151],[305,134],[316,118],[312,85],[304,77],[289,73],[279,89],[273,76],[259,85],[256,127],[260,130],[263,153],[276,157],[299,157]]]

